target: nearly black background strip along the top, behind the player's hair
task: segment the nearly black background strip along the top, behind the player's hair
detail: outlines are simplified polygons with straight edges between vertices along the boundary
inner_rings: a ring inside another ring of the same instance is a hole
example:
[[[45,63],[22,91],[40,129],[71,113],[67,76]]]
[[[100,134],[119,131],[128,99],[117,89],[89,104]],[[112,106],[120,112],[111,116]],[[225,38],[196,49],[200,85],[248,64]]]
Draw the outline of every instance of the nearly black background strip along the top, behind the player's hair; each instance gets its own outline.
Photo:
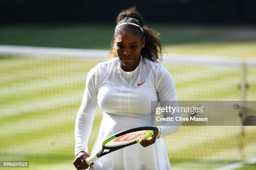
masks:
[[[147,22],[256,23],[255,0],[1,0],[0,23],[113,23],[132,5]]]

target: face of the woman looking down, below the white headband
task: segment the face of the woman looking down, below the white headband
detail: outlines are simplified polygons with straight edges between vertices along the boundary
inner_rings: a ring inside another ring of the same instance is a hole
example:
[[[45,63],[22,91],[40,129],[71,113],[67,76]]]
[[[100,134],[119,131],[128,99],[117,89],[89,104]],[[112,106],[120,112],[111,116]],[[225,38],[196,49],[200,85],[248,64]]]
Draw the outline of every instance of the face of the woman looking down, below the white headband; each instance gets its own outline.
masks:
[[[136,69],[141,59],[141,49],[145,46],[144,37],[131,30],[115,35],[115,52],[120,60],[120,67],[131,72]]]

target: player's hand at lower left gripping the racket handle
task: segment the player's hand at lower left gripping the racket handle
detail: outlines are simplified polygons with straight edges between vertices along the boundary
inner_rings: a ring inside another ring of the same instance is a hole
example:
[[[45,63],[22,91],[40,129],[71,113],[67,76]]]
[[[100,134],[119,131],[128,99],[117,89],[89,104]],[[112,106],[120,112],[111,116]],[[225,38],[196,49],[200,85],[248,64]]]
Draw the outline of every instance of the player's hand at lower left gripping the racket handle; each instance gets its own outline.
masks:
[[[86,158],[88,158],[90,155],[86,152],[80,152],[77,154],[76,158],[73,161],[74,166],[77,168],[77,170],[86,170],[89,166],[92,168],[92,164],[88,165],[86,162]]]

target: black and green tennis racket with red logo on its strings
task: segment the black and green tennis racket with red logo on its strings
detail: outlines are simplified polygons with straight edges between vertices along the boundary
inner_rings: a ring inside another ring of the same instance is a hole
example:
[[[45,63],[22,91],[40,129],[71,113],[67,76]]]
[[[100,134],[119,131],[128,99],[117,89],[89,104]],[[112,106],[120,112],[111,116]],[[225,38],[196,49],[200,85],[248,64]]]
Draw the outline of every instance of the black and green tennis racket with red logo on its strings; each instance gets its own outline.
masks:
[[[86,158],[88,164],[93,163],[98,158],[111,153],[115,150],[125,148],[140,142],[141,137],[149,138],[154,135],[156,132],[156,127],[154,126],[144,126],[139,128],[133,128],[124,130],[122,132],[116,133],[113,136],[110,136],[102,143],[102,149],[96,154],[91,155]]]

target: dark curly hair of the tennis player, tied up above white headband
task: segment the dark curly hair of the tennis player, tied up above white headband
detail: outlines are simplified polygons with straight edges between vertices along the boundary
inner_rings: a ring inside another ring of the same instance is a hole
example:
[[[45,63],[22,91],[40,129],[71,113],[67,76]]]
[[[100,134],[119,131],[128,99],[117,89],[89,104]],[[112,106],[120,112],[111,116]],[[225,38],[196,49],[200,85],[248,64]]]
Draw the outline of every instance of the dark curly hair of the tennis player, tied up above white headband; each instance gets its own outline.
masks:
[[[137,11],[136,7],[129,7],[126,10],[122,10],[117,18],[116,18],[116,24],[118,24],[121,20],[125,18],[134,18],[137,20],[141,25],[143,32],[140,30],[138,27],[134,27],[133,25],[122,25],[118,29],[115,30],[114,34],[114,40],[111,43],[111,50],[110,50],[110,55],[109,58],[114,58],[117,57],[115,48],[114,48],[114,43],[115,43],[115,35],[120,33],[122,30],[133,30],[134,33],[141,35],[141,38],[145,37],[145,47],[141,49],[141,55],[143,58],[147,58],[153,62],[159,62],[162,60],[163,53],[162,51],[164,50],[161,42],[159,41],[159,33],[155,30],[152,30],[151,28],[148,28],[144,24],[143,17],[141,14]]]

